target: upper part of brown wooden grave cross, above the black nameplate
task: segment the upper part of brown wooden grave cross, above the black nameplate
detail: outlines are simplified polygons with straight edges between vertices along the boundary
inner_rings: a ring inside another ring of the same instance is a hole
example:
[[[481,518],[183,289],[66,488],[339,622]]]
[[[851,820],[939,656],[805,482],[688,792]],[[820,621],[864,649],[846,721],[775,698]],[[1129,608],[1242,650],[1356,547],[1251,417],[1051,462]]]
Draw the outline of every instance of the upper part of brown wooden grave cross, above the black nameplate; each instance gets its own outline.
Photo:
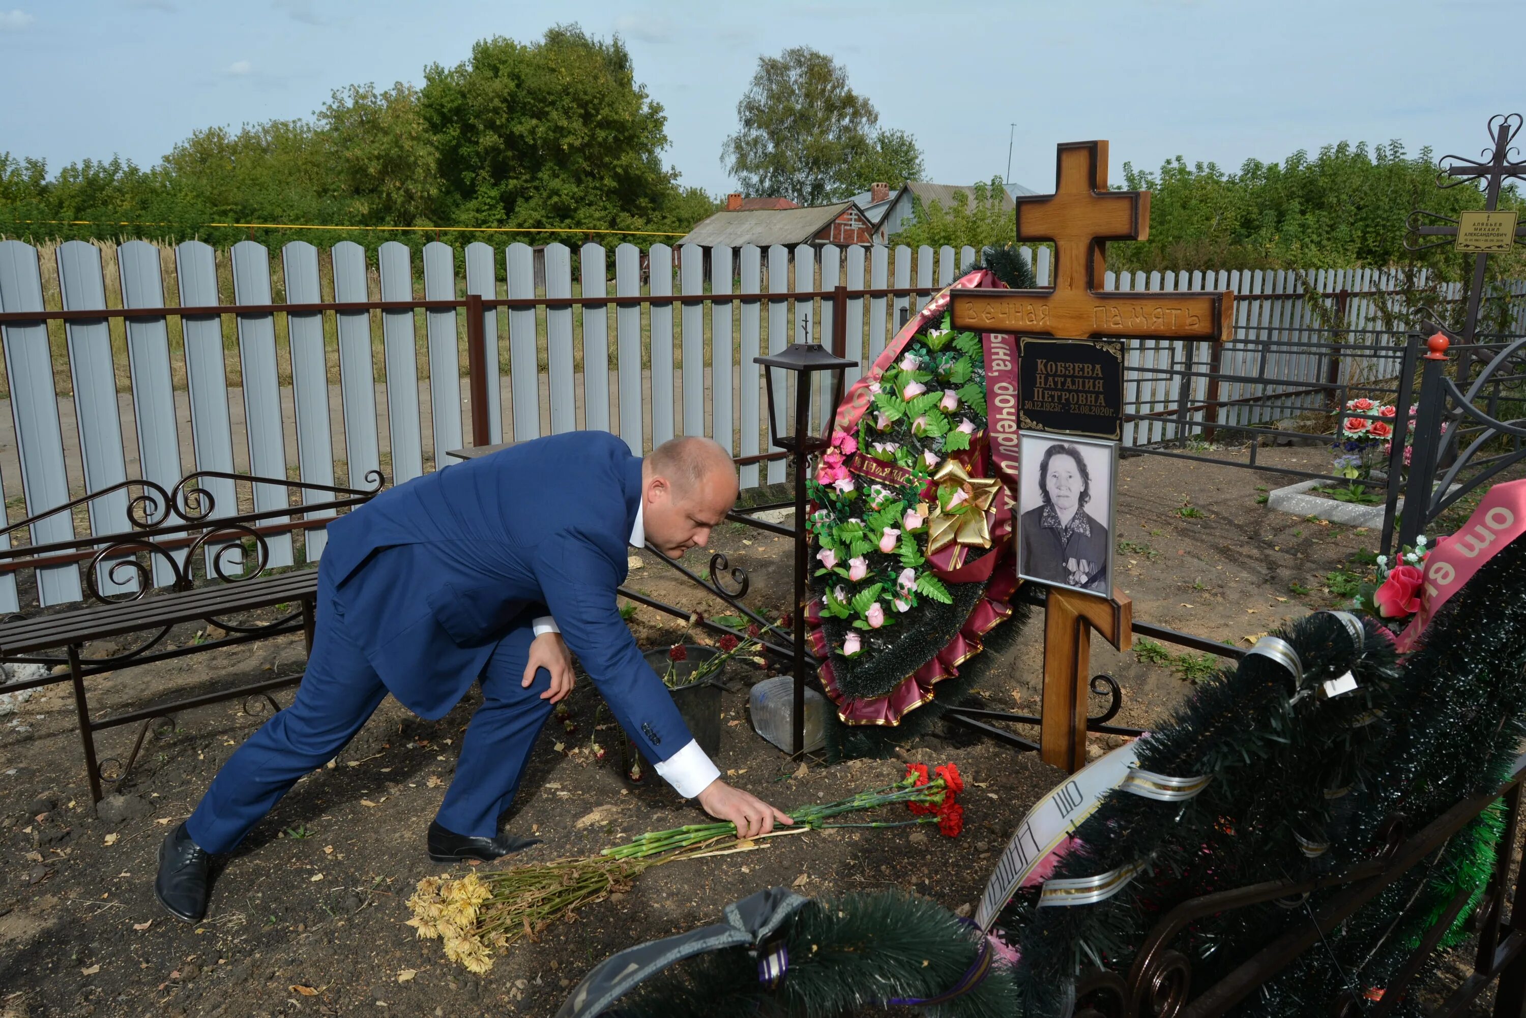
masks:
[[[1050,290],[954,290],[955,328],[1228,339],[1231,293],[1103,292],[1109,240],[1149,237],[1149,191],[1108,191],[1108,143],[1059,145],[1054,194],[1021,195],[1018,240],[1054,243]]]

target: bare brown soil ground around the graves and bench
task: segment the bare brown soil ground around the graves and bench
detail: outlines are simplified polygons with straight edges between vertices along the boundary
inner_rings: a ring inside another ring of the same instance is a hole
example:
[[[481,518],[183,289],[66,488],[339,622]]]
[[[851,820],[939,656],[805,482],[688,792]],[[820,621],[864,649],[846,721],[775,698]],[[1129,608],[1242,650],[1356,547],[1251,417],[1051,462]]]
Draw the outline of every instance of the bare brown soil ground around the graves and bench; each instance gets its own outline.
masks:
[[[1318,469],[1323,449],[1264,450],[1267,461]],[[1360,546],[1378,536],[1300,520],[1257,504],[1279,475],[1189,464],[1157,456],[1120,467],[1117,585],[1135,618],[1247,646],[1282,621],[1335,603],[1328,588]],[[1184,511],[1190,510],[1190,511]],[[713,548],[752,577],[748,601],[781,610],[789,597],[789,545],[728,525]],[[652,556],[630,585],[707,612],[723,610]],[[702,569],[708,556],[691,554]],[[1329,574],[1337,574],[1329,580]],[[644,646],[667,646],[681,623],[641,609]],[[990,704],[1036,713],[1042,626],[1010,652]],[[194,639],[194,629],[175,639]],[[1190,688],[1202,667],[1166,647],[1158,664],[1094,641],[1093,664],[1125,690],[1119,723],[1148,726]],[[119,672],[93,682],[102,714],[169,694],[258,675],[298,672],[299,639],[272,639]],[[729,679],[717,763],[729,780],[765,798],[792,803],[839,798],[884,784],[900,760],[804,769],[758,739],[746,719],[746,687],[761,672]],[[288,702],[290,693],[282,694]],[[598,762],[577,751],[595,736],[613,749],[613,728],[595,733],[598,697],[586,679],[571,699],[566,731],[540,736],[520,798],[507,820],[543,844],[516,861],[594,853],[642,830],[697,818],[661,783],[632,788],[618,754]],[[253,705],[250,705],[253,708]],[[404,926],[414,884],[444,867],[424,855],[424,829],[450,781],[461,730],[475,702],[424,722],[394,701],[377,711],[337,762],[304,778],[227,859],[206,922],[185,926],[154,902],[159,842],[185,818],[218,765],[258,726],[262,713],[220,704],[180,714],[150,737],[121,789],[131,815],[107,823],[92,809],[66,687],[52,687],[0,719],[0,1015],[549,1015],[594,963],[632,943],[714,922],[723,904],[768,885],[809,894],[902,887],[949,908],[972,902],[995,853],[1061,772],[1032,754],[952,731],[908,751],[929,763],[955,760],[972,788],[966,830],[821,832],[778,839],[765,850],[681,862],[584,908],[539,942],[522,943],[478,977],[446,962],[438,942]],[[607,720],[607,713],[598,723]],[[102,737],[102,752],[125,755],[133,737]],[[1096,740],[1096,751],[1112,745]],[[577,752],[574,752],[577,751]],[[385,1007],[386,1010],[380,1010]]]

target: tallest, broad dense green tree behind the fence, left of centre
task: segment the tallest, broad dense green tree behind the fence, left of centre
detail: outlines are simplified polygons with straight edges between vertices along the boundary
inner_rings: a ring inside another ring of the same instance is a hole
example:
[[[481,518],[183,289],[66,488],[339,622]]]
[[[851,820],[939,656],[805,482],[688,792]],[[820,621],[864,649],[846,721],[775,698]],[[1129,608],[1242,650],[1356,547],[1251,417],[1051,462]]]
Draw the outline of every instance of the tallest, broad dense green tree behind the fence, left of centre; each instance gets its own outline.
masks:
[[[420,111],[441,211],[459,224],[635,230],[679,197],[661,160],[667,116],[618,38],[559,26],[531,44],[484,40],[426,69]]]

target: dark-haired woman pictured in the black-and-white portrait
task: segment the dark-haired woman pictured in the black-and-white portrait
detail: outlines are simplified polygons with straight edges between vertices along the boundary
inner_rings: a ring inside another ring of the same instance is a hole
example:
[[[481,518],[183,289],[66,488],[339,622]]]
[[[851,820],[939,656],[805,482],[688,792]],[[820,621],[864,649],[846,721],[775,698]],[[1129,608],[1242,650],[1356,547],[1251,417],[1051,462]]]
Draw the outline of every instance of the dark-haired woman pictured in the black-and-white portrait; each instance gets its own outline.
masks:
[[[1022,572],[1108,592],[1108,528],[1087,514],[1091,475],[1076,446],[1054,443],[1039,461],[1044,505],[1022,514]]]

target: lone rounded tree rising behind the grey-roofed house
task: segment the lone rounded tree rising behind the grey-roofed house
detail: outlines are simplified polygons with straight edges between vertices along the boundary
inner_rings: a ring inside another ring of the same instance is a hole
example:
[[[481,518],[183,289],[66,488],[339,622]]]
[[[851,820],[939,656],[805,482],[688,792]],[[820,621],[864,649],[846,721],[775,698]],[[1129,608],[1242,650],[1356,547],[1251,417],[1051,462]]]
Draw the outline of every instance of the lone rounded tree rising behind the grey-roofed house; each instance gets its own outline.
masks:
[[[760,56],[737,102],[737,133],[722,163],[745,191],[823,205],[922,174],[922,153],[905,131],[877,130],[874,105],[848,85],[835,60],[809,46]]]

